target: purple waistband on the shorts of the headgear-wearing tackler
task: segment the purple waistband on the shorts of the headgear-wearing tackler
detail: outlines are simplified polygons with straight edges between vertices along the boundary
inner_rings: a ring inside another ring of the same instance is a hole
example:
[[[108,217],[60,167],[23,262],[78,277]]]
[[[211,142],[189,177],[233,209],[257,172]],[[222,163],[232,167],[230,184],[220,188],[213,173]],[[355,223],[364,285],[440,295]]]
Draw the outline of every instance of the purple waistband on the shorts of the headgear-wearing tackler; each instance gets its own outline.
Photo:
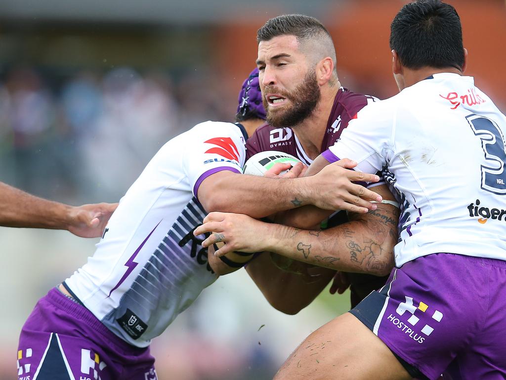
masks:
[[[119,348],[129,351],[138,350],[139,352],[146,350],[146,348],[132,346],[130,343],[124,341],[119,336],[116,336],[111,330],[105,327],[105,325],[100,322],[100,320],[91,311],[76,301],[70,299],[60,290],[56,288],[51,289],[46,295],[46,299],[63,312],[82,322],[85,322],[87,326],[94,329],[101,335],[104,335],[108,340],[111,341],[111,343],[118,346]]]

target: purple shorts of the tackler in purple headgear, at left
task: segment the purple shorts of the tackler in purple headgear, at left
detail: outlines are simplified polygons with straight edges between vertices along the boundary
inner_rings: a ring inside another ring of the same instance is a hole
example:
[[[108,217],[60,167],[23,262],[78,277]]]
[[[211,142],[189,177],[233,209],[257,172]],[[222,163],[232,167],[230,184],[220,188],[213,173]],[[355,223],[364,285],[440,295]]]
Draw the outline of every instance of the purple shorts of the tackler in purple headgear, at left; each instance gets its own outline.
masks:
[[[129,345],[56,288],[41,298],[19,337],[19,380],[155,380],[148,348]]]

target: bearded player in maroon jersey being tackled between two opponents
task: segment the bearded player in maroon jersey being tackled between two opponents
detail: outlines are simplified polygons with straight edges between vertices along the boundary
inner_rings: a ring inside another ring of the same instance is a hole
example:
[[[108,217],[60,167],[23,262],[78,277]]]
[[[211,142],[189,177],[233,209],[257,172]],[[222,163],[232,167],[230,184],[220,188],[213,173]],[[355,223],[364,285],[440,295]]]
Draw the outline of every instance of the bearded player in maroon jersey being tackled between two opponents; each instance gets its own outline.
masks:
[[[246,158],[264,150],[279,150],[311,164],[322,151],[339,139],[341,132],[372,96],[356,94],[341,86],[335,69],[335,50],[325,27],[316,19],[304,15],[284,15],[273,18],[258,31],[259,52],[257,65],[262,100],[267,111],[268,125],[260,127],[248,139]],[[307,268],[298,273],[312,273],[319,286],[312,286],[294,302],[288,294],[288,285],[298,283],[289,273],[279,276],[272,268],[271,256],[261,254],[248,264],[246,270],[264,292],[271,304],[286,313],[294,314],[307,306],[328,284],[336,270],[341,273],[342,288],[351,282],[351,303],[354,307],[372,290],[385,284],[393,267],[393,246],[397,243],[398,208],[384,182],[374,187],[384,202],[367,214],[331,213],[315,207],[302,207],[286,212],[276,222],[314,231],[297,231],[305,246],[297,243],[284,247],[298,254],[298,259],[311,266],[317,264],[328,271]],[[329,217],[330,216],[330,217]],[[328,219],[327,219],[328,218]],[[226,247],[220,254],[255,249],[263,250],[262,234],[251,231],[269,229],[265,223],[238,215],[212,213],[205,221],[211,222],[197,230],[214,231],[204,244],[222,239]],[[321,223],[323,221],[323,224]],[[258,223],[258,224],[257,224]],[[320,231],[320,226],[325,227]],[[267,231],[266,230],[266,231]],[[233,241],[231,241],[233,236]],[[247,237],[246,237],[247,236]],[[299,239],[293,237],[293,241]],[[309,239],[309,240],[308,240]],[[297,240],[299,241],[299,240]],[[309,242],[309,243],[308,243]],[[283,250],[276,251],[283,254]],[[287,267],[289,263],[283,263]]]

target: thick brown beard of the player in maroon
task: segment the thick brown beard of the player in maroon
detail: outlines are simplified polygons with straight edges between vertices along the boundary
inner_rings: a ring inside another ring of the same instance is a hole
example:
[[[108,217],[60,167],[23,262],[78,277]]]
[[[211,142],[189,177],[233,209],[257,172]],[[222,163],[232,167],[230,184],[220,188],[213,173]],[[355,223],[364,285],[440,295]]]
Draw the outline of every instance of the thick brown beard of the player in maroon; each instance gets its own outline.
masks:
[[[274,128],[294,127],[306,120],[320,101],[320,86],[316,81],[316,72],[308,70],[302,84],[291,93],[280,91],[275,86],[266,87],[265,92],[275,93],[290,100],[291,106],[285,109],[272,109],[265,96],[262,97],[264,108],[267,110],[267,122]]]

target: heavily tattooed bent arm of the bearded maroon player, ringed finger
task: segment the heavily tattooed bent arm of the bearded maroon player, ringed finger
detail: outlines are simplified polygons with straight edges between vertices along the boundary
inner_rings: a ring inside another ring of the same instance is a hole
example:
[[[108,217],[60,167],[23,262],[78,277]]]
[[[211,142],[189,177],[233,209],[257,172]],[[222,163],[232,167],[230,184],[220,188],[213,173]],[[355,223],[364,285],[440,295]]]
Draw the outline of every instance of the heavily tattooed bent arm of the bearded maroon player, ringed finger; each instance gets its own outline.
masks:
[[[385,199],[392,198],[386,189],[375,191]],[[395,206],[378,203],[377,209],[367,214],[350,214],[348,223],[325,231],[307,231],[264,223],[245,215],[211,213],[196,233],[223,234],[227,244],[217,255],[232,250],[270,251],[333,270],[382,276],[394,265],[392,252],[397,243],[398,218]],[[212,235],[202,245],[213,244],[214,239]]]

